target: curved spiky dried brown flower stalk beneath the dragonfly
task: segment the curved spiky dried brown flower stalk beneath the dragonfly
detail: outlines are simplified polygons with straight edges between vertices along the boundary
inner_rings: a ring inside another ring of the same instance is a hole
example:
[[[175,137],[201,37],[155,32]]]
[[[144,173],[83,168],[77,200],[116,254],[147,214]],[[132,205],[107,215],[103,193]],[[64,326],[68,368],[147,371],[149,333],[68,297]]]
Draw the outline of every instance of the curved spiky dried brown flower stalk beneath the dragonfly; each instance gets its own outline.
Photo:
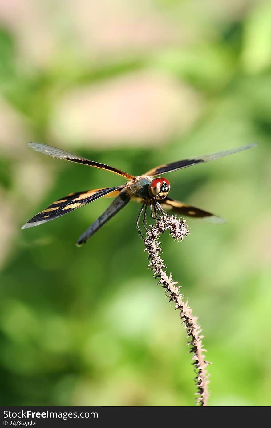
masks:
[[[146,249],[149,253],[149,269],[152,269],[153,276],[159,278],[158,284],[167,290],[168,297],[171,303],[174,303],[175,309],[179,309],[182,323],[185,324],[185,329],[188,334],[188,345],[190,345],[190,352],[193,354],[192,364],[196,373],[195,382],[197,385],[197,404],[200,406],[207,405],[208,389],[207,385],[208,374],[206,366],[210,363],[205,360],[203,352],[200,325],[197,324],[197,317],[192,315],[192,309],[188,306],[188,302],[184,303],[183,295],[179,294],[179,288],[176,287],[178,282],[173,282],[170,273],[167,276],[167,266],[161,258],[162,248],[158,242],[161,233],[169,230],[170,235],[177,241],[182,241],[185,236],[189,234],[186,220],[177,218],[177,216],[163,216],[156,222],[156,226],[150,226],[146,231],[147,238],[144,240]]]

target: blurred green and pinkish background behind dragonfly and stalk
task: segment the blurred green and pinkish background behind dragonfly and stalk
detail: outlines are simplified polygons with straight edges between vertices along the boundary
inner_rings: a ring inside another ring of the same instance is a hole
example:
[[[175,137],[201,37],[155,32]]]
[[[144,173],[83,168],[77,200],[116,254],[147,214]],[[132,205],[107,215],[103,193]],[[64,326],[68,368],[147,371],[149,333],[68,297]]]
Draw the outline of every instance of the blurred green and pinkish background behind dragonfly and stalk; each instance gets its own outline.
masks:
[[[227,224],[189,219],[182,244],[162,243],[203,327],[209,405],[270,405],[270,22],[261,0],[1,1],[2,405],[195,403],[185,331],[147,269],[139,205],[80,249],[110,199],[21,231],[68,193],[123,182],[27,141],[135,175],[259,143],[167,176],[171,197]]]

